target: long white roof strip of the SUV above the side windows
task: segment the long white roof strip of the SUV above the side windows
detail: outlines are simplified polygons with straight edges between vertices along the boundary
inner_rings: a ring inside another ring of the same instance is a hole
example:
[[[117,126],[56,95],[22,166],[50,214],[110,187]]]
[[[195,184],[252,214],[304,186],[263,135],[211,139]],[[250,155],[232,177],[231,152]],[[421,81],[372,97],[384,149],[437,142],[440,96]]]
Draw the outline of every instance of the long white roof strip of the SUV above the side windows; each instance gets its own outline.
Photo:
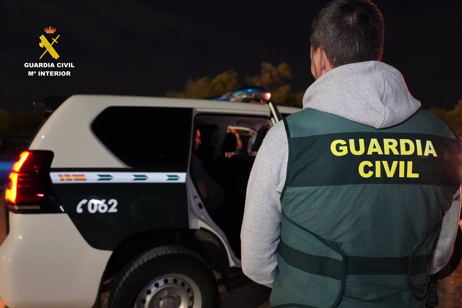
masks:
[[[85,105],[99,103],[107,106],[189,107],[197,109],[225,109],[254,112],[267,112],[269,110],[266,105],[254,103],[128,95],[72,95],[65,101],[65,103],[78,103]],[[280,113],[295,113],[301,110],[297,107],[280,105],[278,105],[278,109],[280,110]]]

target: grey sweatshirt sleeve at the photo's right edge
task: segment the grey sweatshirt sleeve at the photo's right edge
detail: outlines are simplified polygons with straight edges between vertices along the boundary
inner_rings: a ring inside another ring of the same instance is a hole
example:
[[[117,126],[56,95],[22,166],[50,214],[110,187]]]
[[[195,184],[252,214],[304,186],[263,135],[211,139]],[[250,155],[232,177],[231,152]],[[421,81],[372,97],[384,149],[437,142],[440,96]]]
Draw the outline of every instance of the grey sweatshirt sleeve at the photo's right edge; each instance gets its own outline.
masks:
[[[435,248],[430,258],[430,274],[439,272],[448,263],[459,228],[461,212],[461,190],[456,191],[449,209],[444,213]]]

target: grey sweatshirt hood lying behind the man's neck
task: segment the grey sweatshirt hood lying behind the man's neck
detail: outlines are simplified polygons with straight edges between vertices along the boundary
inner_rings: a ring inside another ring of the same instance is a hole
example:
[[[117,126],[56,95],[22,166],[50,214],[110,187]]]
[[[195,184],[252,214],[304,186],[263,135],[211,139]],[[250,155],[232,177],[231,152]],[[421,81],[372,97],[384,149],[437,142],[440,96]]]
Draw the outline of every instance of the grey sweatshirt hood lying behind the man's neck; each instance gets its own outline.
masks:
[[[420,102],[407,90],[401,73],[379,61],[341,65],[306,90],[303,108],[332,113],[375,128],[410,118]]]

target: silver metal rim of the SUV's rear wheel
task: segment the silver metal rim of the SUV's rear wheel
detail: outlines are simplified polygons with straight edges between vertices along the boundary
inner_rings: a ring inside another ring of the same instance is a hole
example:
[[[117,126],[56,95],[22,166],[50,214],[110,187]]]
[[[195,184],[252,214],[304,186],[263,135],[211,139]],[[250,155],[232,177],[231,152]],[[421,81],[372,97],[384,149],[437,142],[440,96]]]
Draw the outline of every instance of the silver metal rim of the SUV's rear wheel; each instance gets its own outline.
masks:
[[[199,286],[188,276],[166,274],[153,279],[136,298],[134,308],[201,308]]]

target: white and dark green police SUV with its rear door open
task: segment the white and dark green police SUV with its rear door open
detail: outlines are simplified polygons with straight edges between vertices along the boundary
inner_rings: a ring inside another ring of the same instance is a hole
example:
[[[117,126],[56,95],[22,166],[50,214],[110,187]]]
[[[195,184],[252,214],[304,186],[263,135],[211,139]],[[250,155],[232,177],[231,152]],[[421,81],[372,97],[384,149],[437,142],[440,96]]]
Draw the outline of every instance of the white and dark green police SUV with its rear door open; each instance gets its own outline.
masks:
[[[97,307],[109,290],[111,308],[217,308],[218,283],[240,267],[250,169],[281,118],[249,93],[64,101],[9,175],[6,305]]]

